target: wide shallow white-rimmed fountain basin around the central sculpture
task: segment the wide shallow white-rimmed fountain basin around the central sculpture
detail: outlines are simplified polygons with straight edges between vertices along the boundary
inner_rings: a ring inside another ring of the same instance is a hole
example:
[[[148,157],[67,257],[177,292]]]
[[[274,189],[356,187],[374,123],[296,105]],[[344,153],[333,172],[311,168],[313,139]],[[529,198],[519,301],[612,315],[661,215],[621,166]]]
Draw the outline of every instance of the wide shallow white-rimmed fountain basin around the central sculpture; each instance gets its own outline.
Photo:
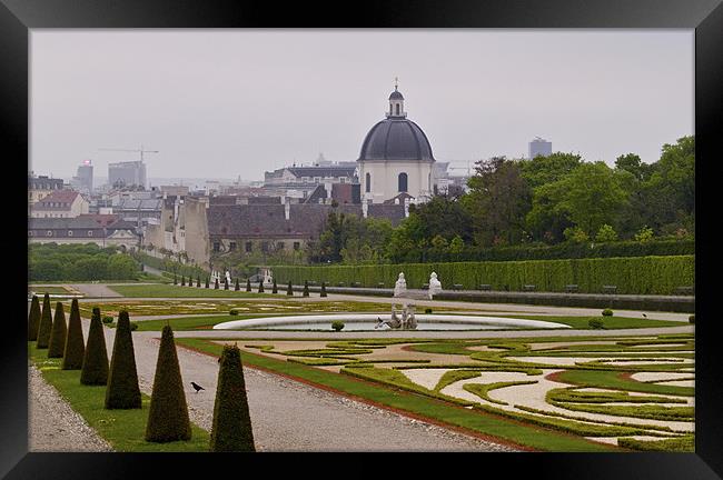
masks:
[[[416,314],[416,330],[499,330],[499,329],[568,329],[564,323],[504,317]],[[330,330],[333,321],[345,323],[345,330],[375,330],[378,318],[388,320],[388,313],[331,313],[288,317],[265,317],[231,320],[214,326],[214,330],[297,329]],[[382,329],[377,329],[382,330]],[[390,330],[384,328],[384,330]]]

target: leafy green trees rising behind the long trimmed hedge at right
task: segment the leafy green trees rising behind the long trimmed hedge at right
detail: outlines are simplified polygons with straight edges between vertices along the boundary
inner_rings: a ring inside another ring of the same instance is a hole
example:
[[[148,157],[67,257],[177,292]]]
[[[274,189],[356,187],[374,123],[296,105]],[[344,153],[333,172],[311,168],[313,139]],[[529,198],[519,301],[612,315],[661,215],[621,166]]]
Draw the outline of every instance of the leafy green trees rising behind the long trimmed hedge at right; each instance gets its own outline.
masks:
[[[694,240],[695,139],[664,144],[658,161],[635,153],[615,166],[555,152],[475,163],[466,191],[423,204],[396,228],[388,220],[333,212],[311,263],[425,261],[484,249]]]

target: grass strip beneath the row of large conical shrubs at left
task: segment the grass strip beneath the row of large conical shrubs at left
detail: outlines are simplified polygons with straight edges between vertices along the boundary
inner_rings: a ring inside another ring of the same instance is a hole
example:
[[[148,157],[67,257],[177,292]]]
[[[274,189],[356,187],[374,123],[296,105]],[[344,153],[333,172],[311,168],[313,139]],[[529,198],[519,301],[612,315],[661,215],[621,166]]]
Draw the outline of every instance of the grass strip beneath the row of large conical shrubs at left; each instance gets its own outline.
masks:
[[[132,452],[198,452],[209,450],[209,433],[191,423],[191,440],[153,443],[143,440],[150,407],[150,397],[142,396],[142,408],[106,410],[106,387],[80,383],[80,370],[60,370],[62,359],[48,359],[48,350],[37,350],[28,342],[30,360],[43,378],[70,403],[90,427],[116,451]]]

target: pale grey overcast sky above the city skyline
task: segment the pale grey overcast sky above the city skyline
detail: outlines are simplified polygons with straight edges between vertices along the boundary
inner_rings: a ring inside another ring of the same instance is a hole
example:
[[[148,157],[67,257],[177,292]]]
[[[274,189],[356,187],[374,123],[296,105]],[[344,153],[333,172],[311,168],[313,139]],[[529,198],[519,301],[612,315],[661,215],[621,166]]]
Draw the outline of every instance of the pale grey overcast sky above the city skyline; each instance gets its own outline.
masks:
[[[654,162],[693,133],[693,30],[32,30],[31,164],[147,153],[148,177],[263,179],[356,160],[399,78],[438,161]]]

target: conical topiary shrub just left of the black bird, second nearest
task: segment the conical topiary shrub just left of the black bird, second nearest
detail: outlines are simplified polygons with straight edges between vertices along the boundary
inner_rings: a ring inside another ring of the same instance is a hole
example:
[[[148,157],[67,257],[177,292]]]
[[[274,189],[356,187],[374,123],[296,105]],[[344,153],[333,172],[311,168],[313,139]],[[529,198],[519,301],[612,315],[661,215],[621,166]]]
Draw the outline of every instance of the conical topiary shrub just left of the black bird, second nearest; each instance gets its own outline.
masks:
[[[153,391],[146,424],[146,441],[169,442],[191,439],[191,423],[184,393],[174,331],[164,327],[156,362]]]

